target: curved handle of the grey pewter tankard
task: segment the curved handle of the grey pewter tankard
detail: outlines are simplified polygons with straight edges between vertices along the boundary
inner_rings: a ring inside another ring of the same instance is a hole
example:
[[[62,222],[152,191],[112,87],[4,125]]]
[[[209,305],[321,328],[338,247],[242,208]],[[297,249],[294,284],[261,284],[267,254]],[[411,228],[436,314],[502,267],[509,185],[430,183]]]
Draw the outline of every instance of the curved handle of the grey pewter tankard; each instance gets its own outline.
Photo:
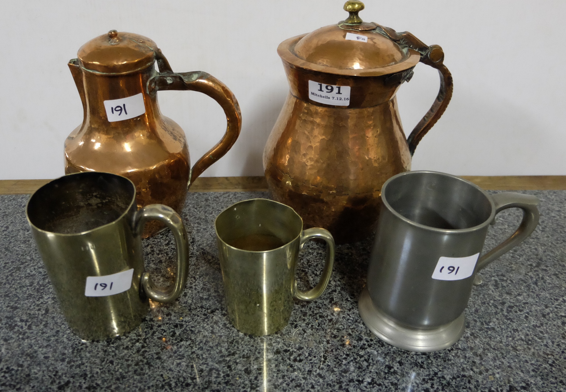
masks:
[[[523,219],[521,225],[519,225],[518,229],[509,236],[509,238],[491,249],[491,251],[487,252],[478,260],[476,273],[486,268],[492,261],[503,255],[503,253],[510,251],[531,235],[531,232],[533,232],[538,225],[538,218],[540,216],[537,208],[538,199],[535,196],[504,192],[496,193],[492,195],[491,198],[495,203],[495,214],[508,208],[520,208],[523,210]]]

